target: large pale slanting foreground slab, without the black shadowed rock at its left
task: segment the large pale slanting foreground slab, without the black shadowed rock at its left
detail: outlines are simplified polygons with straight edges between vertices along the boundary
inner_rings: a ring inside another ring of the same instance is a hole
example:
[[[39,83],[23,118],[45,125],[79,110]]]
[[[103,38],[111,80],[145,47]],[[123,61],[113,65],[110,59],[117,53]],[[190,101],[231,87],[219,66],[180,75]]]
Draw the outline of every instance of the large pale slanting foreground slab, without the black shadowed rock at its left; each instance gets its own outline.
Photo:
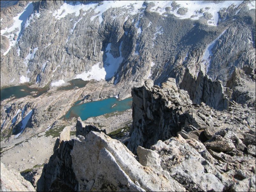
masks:
[[[185,190],[161,167],[155,169],[148,166],[150,162],[146,163],[147,166],[141,165],[124,144],[102,132],[90,132],[85,140],[75,140],[71,156],[73,171],[79,182],[94,181],[90,190]]]

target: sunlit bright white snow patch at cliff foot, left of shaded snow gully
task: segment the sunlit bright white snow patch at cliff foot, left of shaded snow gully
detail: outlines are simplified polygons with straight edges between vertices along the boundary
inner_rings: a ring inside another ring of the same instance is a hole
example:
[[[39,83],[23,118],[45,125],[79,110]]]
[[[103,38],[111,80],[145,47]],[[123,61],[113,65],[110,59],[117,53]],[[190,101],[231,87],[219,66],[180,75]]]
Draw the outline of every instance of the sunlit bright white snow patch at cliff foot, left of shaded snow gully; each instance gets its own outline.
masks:
[[[75,79],[82,79],[84,81],[89,81],[92,79],[95,79],[96,81],[100,81],[102,79],[105,79],[106,76],[106,71],[105,69],[102,67],[99,67],[100,63],[95,64],[94,66],[92,66],[92,69],[89,71],[85,71],[82,74],[79,74],[75,77]]]

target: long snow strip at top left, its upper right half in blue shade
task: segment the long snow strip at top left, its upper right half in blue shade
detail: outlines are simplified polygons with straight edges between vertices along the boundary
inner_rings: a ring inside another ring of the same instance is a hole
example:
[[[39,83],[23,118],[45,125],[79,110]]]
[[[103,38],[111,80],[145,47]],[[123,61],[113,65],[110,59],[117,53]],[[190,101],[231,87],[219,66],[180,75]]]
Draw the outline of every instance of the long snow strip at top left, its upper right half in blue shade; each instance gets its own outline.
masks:
[[[22,11],[16,17],[13,18],[13,20],[14,20],[13,25],[10,28],[6,27],[5,29],[1,30],[1,32],[0,32],[1,35],[8,33],[8,35],[5,35],[5,36],[10,41],[9,48],[4,52],[3,55],[6,55],[11,50],[11,48],[19,41],[19,37],[25,28],[25,27],[24,28],[22,28],[22,27],[24,26],[27,18],[31,15],[33,10],[34,10],[34,5],[32,4],[32,2],[28,3],[26,5],[26,7],[24,8],[24,11]],[[13,31],[14,31],[14,33],[11,33]],[[16,38],[14,38],[15,36],[16,36]]]

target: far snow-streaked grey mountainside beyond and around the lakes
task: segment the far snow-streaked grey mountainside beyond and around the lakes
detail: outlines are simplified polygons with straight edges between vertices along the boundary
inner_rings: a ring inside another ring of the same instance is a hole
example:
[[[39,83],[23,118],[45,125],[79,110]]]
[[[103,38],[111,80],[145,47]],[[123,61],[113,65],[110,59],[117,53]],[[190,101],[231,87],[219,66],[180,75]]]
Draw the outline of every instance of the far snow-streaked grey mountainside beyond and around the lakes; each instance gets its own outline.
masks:
[[[254,34],[254,1],[19,1],[1,10],[1,88],[51,89],[2,101],[1,132],[37,134],[76,100],[124,99],[145,79],[175,78],[193,102],[225,109],[236,67],[255,80]],[[89,83],[58,92],[74,78]]]

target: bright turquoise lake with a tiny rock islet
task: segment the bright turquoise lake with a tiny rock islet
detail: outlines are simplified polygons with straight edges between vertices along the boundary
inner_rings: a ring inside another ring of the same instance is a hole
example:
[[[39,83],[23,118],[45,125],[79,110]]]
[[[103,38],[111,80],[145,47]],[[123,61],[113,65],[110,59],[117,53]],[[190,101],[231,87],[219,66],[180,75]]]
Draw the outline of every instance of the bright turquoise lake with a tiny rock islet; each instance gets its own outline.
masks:
[[[64,115],[64,119],[81,117],[82,121],[85,121],[89,117],[96,117],[115,111],[125,111],[126,109],[130,109],[131,107],[132,97],[121,101],[117,100],[115,97],[112,97],[104,100],[75,105],[70,108],[67,114]]]

